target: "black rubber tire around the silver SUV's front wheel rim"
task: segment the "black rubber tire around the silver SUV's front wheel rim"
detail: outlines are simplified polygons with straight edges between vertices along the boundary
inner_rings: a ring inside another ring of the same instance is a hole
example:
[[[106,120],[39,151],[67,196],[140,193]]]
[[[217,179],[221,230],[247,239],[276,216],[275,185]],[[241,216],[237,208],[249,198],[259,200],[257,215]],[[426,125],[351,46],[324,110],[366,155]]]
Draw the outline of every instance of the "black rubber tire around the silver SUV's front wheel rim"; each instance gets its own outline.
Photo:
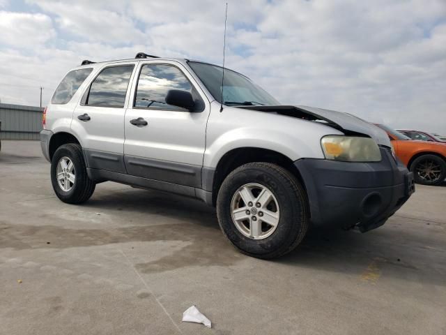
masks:
[[[232,218],[233,196],[241,186],[249,183],[266,186],[279,205],[277,228],[264,239],[246,237],[236,228]],[[305,237],[309,226],[307,202],[302,185],[289,171],[271,163],[248,163],[224,179],[217,195],[217,217],[226,238],[240,252],[255,258],[271,259],[289,253]]]

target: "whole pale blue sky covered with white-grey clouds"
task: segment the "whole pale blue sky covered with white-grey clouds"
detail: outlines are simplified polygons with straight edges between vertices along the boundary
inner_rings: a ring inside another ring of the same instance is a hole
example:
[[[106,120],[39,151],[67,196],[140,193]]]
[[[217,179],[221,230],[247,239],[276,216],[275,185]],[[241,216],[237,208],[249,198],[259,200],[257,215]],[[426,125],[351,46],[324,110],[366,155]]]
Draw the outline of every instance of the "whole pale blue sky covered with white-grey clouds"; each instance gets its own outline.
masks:
[[[222,63],[217,0],[0,0],[0,99],[44,105],[83,59]],[[446,134],[446,0],[228,0],[226,66],[282,103]]]

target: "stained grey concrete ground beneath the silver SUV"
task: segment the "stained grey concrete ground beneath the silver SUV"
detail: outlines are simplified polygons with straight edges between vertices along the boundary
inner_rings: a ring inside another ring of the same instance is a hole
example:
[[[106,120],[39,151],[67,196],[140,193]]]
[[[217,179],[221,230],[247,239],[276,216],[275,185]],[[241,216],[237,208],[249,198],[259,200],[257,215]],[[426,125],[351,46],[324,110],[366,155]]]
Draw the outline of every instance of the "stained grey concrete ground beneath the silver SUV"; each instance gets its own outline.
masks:
[[[104,183],[64,204],[39,142],[3,141],[0,334],[446,334],[445,208],[417,186],[382,228],[262,261],[196,200]],[[181,322],[192,304],[212,329]]]

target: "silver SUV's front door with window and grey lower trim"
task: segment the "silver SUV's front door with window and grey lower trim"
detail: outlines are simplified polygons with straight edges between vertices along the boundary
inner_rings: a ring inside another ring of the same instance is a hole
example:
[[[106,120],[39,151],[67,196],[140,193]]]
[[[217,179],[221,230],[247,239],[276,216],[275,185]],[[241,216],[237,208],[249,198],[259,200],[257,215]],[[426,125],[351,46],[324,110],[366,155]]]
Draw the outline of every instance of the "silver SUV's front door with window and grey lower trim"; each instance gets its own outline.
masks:
[[[124,121],[128,174],[200,187],[208,99],[187,68],[175,61],[141,61],[134,81]],[[192,94],[193,112],[166,103],[172,89]]]

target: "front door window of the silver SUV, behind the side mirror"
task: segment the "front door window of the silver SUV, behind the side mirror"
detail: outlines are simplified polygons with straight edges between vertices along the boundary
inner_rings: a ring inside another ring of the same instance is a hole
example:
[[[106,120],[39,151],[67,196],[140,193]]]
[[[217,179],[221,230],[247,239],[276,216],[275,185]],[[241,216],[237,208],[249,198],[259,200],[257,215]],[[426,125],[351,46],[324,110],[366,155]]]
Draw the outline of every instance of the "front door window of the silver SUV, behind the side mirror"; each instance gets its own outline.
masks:
[[[203,110],[204,103],[179,68],[171,65],[146,64],[139,74],[134,107],[156,108],[163,110],[184,110],[181,107],[168,105],[166,96],[171,89],[188,91],[195,101],[195,109]]]

